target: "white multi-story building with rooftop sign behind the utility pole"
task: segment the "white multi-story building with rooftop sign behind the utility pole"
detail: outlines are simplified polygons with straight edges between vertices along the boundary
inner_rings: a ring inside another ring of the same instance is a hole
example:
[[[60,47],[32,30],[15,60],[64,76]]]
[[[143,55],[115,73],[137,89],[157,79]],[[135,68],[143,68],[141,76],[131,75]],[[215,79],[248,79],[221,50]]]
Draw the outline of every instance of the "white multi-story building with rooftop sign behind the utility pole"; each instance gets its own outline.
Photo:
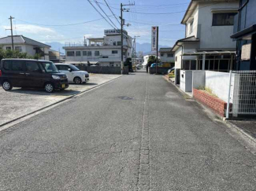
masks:
[[[63,47],[66,63],[98,64],[121,67],[121,30],[105,30],[102,38],[89,38],[83,44],[69,43]],[[132,37],[123,35],[124,61],[132,57]]]

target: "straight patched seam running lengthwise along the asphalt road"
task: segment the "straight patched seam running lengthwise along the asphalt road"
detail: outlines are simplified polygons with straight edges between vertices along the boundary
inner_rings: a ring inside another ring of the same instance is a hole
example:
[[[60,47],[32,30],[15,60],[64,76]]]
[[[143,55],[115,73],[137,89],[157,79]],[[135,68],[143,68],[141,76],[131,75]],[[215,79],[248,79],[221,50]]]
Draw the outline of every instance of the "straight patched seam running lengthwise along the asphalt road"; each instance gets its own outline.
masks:
[[[139,180],[137,190],[150,190],[150,132],[148,98],[148,84],[146,83],[146,95],[143,109],[143,128],[139,149]]]

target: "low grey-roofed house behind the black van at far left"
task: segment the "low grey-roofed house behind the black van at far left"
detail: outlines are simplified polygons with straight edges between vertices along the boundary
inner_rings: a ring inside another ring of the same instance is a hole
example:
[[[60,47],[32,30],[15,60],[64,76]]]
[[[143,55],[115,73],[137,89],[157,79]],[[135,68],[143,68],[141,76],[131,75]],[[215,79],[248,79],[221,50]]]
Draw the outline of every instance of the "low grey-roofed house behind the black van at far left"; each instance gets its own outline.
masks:
[[[35,56],[39,53],[42,60],[49,60],[50,46],[43,44],[42,42],[29,39],[23,35],[13,35],[14,50],[21,53],[27,53],[29,56]],[[12,50],[12,37],[6,36],[0,39],[0,48],[4,50]]]

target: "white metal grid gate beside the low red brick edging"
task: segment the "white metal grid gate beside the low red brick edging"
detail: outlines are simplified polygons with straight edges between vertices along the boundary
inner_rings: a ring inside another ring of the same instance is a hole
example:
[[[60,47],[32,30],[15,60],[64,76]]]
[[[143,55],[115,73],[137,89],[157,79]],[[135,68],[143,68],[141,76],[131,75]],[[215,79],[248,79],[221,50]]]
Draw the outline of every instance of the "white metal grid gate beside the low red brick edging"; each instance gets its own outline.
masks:
[[[256,71],[231,71],[226,117],[256,116]]]

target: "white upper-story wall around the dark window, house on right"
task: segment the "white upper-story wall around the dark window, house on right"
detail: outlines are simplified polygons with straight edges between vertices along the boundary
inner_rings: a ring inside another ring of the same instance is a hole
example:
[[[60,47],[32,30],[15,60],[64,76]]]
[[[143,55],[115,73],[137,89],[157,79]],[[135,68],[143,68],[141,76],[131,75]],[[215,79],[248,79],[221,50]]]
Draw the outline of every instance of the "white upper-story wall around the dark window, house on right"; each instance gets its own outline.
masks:
[[[212,9],[234,9],[239,8],[239,2],[215,3],[209,6],[209,3],[199,3],[198,24],[201,30],[197,37],[200,39],[200,49],[236,49],[236,42],[233,42],[230,36],[233,34],[233,26],[212,26]]]

